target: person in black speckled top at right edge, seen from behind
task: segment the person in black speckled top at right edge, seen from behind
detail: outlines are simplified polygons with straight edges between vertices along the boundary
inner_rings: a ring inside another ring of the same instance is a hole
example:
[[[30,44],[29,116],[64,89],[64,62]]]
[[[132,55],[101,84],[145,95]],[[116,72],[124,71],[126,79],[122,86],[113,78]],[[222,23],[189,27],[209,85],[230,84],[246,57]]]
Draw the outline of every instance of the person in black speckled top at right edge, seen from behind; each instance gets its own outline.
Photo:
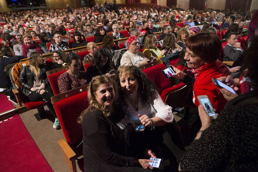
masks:
[[[228,99],[230,101],[213,123],[204,107],[199,106],[202,126],[181,161],[182,171],[226,171],[227,169],[255,171],[257,164],[255,152],[258,151],[256,127],[258,64],[257,60],[253,59],[258,53],[257,44],[256,37],[244,56],[248,70],[246,76],[252,90],[236,97],[234,93],[221,89],[225,98],[231,96],[234,98]],[[232,83],[232,87],[236,86],[234,81]],[[243,125],[243,119],[246,119],[248,125]],[[247,159],[251,161],[246,161]]]

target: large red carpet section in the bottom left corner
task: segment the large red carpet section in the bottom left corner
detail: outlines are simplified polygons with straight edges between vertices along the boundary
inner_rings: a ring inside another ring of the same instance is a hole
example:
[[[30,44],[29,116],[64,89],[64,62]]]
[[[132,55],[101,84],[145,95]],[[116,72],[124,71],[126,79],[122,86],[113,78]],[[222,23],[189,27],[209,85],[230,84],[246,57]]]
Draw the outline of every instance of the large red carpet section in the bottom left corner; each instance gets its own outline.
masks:
[[[18,115],[0,121],[0,171],[53,171]]]

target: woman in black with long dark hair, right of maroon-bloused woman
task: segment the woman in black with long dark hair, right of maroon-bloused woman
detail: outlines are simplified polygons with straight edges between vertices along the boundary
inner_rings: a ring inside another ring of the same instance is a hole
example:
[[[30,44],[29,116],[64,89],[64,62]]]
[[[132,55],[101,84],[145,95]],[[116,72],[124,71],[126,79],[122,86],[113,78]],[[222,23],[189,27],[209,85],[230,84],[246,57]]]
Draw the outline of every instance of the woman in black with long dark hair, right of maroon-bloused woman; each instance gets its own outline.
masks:
[[[97,75],[109,74],[111,70],[116,70],[110,55],[105,48],[100,48],[94,55],[91,65],[87,68],[87,81],[91,81]]]

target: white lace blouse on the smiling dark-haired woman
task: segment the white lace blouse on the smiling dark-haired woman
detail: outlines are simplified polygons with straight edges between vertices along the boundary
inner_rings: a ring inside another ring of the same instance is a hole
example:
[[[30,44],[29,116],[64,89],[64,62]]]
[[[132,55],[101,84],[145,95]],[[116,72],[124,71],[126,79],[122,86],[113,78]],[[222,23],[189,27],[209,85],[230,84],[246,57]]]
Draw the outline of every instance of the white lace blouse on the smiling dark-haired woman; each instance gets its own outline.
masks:
[[[158,116],[163,121],[167,123],[172,123],[173,121],[172,107],[170,107],[169,105],[165,105],[158,93],[157,95],[158,96],[154,100],[154,103],[150,104],[150,106],[148,107],[142,104],[141,98],[139,97],[138,112],[136,112],[132,107],[132,105],[129,103],[129,101],[125,99],[126,105],[124,105],[123,103],[121,104],[122,104],[122,109],[126,114],[128,120],[131,123],[140,125],[141,122],[139,120],[138,114],[141,114],[141,115],[147,115],[149,118]]]

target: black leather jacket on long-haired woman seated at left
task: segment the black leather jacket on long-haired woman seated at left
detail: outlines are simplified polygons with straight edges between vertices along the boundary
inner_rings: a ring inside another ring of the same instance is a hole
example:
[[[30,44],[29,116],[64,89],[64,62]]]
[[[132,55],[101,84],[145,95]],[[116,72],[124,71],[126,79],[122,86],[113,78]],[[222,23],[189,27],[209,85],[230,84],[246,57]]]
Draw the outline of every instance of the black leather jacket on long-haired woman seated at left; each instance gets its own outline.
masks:
[[[43,68],[40,68],[40,74],[43,77],[43,83],[45,84],[45,87],[48,86],[49,80],[46,75],[46,66]],[[32,91],[30,90],[34,85],[34,73],[30,70],[29,65],[24,66],[21,69],[20,77],[19,77],[19,83],[21,85],[21,91],[28,96]]]

